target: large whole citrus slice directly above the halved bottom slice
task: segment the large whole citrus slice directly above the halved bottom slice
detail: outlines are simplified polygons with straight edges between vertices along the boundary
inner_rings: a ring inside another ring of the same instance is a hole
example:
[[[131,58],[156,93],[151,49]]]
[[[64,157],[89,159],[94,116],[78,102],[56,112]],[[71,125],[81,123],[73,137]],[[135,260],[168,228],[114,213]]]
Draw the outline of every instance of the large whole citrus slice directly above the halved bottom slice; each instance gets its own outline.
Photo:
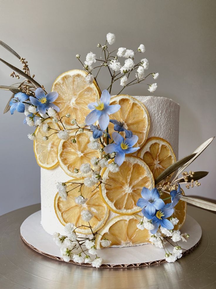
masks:
[[[136,206],[143,187],[154,188],[154,178],[144,161],[135,156],[126,156],[119,171],[112,173],[104,168],[103,183],[99,186],[104,202],[112,212],[130,215],[141,211]]]

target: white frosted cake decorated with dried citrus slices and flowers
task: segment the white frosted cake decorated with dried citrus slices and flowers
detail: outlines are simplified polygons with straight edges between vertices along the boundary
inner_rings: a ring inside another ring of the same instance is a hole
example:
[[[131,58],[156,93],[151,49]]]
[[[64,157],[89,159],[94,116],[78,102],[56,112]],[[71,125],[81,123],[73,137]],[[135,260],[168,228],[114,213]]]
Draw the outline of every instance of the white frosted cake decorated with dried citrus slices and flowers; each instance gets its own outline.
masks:
[[[104,247],[150,243],[165,251],[167,262],[174,262],[184,250],[177,242],[189,238],[179,230],[186,202],[216,207],[185,196],[181,188],[200,186],[199,179],[208,174],[185,169],[213,138],[178,160],[180,106],[164,97],[122,94],[130,85],[156,80],[159,73],[145,75],[146,58],[134,63],[135,54],[145,52],[143,44],[136,52],[120,47],[114,54],[117,49],[109,52],[107,45],[114,42],[115,35],[108,33],[106,43],[97,44],[100,59],[90,52],[82,63],[77,54],[83,70],[58,76],[50,93],[31,77],[25,58],[1,42],[23,64],[22,71],[1,60],[18,72],[11,76],[25,77],[16,85],[0,87],[13,93],[4,113],[24,113],[24,123],[35,128],[28,138],[34,141],[41,166],[41,226],[46,236],[53,235],[64,261],[99,267],[103,261],[97,254]],[[97,61],[100,65],[93,67]],[[97,82],[102,67],[111,76],[104,90]],[[135,79],[129,80],[133,72]],[[111,97],[118,80],[121,90]],[[157,83],[147,86],[154,93]]]

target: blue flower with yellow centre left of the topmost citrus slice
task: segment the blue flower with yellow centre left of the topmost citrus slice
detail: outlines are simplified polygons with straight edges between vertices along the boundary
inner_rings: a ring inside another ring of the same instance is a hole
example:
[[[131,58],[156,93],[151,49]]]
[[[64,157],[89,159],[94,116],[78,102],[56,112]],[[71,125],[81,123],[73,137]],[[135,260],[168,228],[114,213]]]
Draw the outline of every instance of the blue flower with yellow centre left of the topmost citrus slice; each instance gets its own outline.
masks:
[[[38,107],[39,113],[45,114],[46,109],[48,110],[48,108],[53,108],[56,111],[60,110],[58,106],[53,104],[53,101],[55,101],[58,97],[57,92],[53,91],[45,95],[45,92],[42,88],[37,88],[35,90],[35,96],[36,98],[30,96],[29,99],[33,105]]]

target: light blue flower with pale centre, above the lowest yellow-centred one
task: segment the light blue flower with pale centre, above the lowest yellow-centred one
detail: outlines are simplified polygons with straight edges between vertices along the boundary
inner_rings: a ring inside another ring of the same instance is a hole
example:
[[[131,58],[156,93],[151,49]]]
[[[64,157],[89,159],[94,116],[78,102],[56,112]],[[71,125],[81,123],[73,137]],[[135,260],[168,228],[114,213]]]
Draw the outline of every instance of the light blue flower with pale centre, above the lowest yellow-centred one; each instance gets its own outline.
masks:
[[[158,192],[158,189],[154,188],[151,191],[148,188],[143,187],[141,191],[141,196],[136,203],[137,206],[146,209],[146,212],[153,216],[156,210],[160,210],[164,207],[164,202],[162,199],[160,199],[160,194]]]

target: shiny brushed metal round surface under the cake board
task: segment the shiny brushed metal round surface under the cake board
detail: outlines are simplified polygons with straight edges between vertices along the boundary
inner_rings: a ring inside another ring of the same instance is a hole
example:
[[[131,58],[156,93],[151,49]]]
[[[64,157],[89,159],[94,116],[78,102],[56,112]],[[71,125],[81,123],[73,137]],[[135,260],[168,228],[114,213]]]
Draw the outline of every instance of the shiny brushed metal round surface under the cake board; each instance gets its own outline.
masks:
[[[50,259],[20,237],[22,222],[40,204],[0,217],[0,288],[216,288],[216,214],[188,206],[202,227],[200,244],[175,263],[148,267],[92,268]]]

